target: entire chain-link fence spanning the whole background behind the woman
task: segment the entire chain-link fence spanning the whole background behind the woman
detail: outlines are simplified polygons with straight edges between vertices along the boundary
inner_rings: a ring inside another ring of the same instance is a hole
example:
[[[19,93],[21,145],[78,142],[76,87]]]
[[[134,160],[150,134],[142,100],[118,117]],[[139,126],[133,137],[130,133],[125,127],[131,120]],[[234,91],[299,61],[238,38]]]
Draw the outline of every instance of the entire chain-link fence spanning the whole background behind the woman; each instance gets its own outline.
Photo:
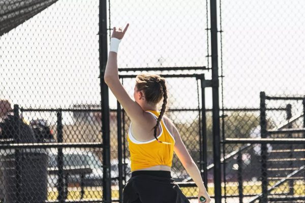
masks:
[[[108,101],[103,68],[111,28],[126,23],[120,80],[132,95],[136,74],[164,75],[166,115],[208,193],[302,202],[304,8],[301,0],[0,0],[0,202],[121,201],[130,120],[111,93]],[[176,156],[172,177],[196,198]]]

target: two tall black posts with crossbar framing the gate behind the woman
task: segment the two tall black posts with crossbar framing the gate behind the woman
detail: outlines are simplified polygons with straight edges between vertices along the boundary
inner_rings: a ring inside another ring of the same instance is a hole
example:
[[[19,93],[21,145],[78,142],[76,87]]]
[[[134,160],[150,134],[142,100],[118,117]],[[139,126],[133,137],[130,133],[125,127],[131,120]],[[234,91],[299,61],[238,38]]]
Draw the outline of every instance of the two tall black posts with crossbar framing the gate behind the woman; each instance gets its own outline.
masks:
[[[107,1],[100,0],[100,70],[101,70],[101,92],[102,92],[102,109],[103,115],[109,115],[109,98],[108,98],[108,88],[103,81],[104,78],[104,70],[107,63]],[[217,14],[217,0],[210,0],[210,28],[207,27],[206,30],[210,30],[210,48],[211,54],[209,53],[206,57],[211,57],[211,80],[207,81],[207,86],[212,88],[212,133],[213,133],[213,160],[214,160],[214,187],[215,187],[215,203],[221,203],[222,200],[222,192],[221,192],[221,137],[220,137],[220,106],[219,106],[219,67],[218,67],[218,32],[222,32],[218,30],[218,14]],[[208,9],[207,9],[208,11]],[[208,15],[208,14],[207,14]],[[208,23],[207,23],[208,24]],[[109,27],[110,30],[110,27]],[[109,36],[110,37],[110,36]],[[104,46],[103,46],[104,45]],[[101,68],[102,67],[102,68]],[[175,70],[179,70],[179,67],[170,67]],[[159,69],[159,68],[152,68]],[[209,70],[209,68],[204,68]],[[124,69],[129,71],[127,69]],[[131,69],[130,71],[139,71],[140,69]],[[163,70],[163,69],[162,69]],[[123,69],[121,69],[123,71]],[[149,71],[149,68],[145,68],[145,71]],[[106,136],[106,140],[104,141],[104,152],[103,157],[105,157],[105,161],[103,160],[103,164],[110,164],[110,141],[109,141],[109,116],[104,118],[103,116],[103,138],[104,134]],[[107,133],[107,134],[106,134]],[[105,155],[105,156],[104,156]],[[119,163],[120,165],[122,163]],[[200,163],[203,164],[204,163]],[[106,168],[104,168],[106,170]],[[121,170],[121,169],[120,169]],[[104,171],[106,172],[106,171]],[[108,171],[109,172],[109,171]],[[109,172],[110,173],[110,172]],[[105,173],[104,173],[105,174]],[[107,174],[108,177],[108,174]],[[110,174],[109,174],[110,178]],[[204,178],[204,177],[203,177]],[[120,180],[121,181],[121,180]],[[109,180],[108,180],[109,183]],[[106,183],[105,183],[106,185]],[[121,183],[120,183],[121,185]],[[109,184],[107,185],[109,186]],[[121,192],[119,193],[122,194]],[[103,199],[105,202],[111,201],[111,191],[103,190]]]

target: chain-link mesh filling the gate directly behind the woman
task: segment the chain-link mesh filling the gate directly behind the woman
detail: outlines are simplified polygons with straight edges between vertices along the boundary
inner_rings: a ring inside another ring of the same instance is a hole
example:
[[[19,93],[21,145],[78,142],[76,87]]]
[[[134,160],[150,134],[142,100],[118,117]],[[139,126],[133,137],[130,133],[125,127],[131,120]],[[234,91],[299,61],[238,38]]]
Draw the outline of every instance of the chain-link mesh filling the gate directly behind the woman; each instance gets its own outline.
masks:
[[[191,75],[192,76],[192,75]],[[166,77],[166,75],[164,75]],[[185,143],[190,155],[194,159],[196,163],[200,161],[200,131],[201,126],[199,123],[199,112],[201,111],[201,101],[198,98],[197,89],[194,87],[197,87],[198,80],[195,77],[191,78],[166,78],[167,81],[167,89],[168,89],[168,95],[169,95],[169,101],[168,101],[168,110],[166,112],[166,116],[172,120],[174,125],[177,127],[182,141]],[[124,78],[123,83],[130,95],[133,94],[134,91],[134,78]],[[177,91],[181,89],[182,87],[189,86],[188,91],[183,92],[183,97],[181,97],[181,92]],[[201,92],[201,89],[199,89]],[[201,94],[201,93],[200,93]],[[198,107],[199,105],[199,107]],[[128,129],[130,126],[130,119],[124,113],[124,119],[123,119],[123,131],[126,132],[124,134],[125,137],[125,157],[130,157],[128,144],[127,144],[127,136],[128,136]],[[211,120],[208,121],[209,123],[209,138],[211,138],[211,129],[210,129],[210,123]],[[115,127],[115,125],[113,125]],[[112,131],[116,131],[116,129],[112,128]],[[113,157],[117,154],[117,148],[116,147],[116,137],[113,137],[112,140],[112,152],[114,154]],[[208,142],[208,146],[210,147],[210,139]],[[130,162],[130,160],[127,158],[127,162]],[[208,151],[208,161],[209,163],[212,162],[212,154],[211,154],[211,148],[209,148]],[[128,168],[126,168],[127,172],[130,172],[130,165]],[[174,155],[173,161],[172,161],[172,178],[176,182],[188,182],[191,181],[191,178],[187,171],[185,170],[184,166],[179,161],[178,157]],[[128,180],[128,179],[127,179]],[[209,174],[209,182],[212,182],[212,175]],[[181,186],[180,186],[181,187]],[[194,197],[197,195],[198,191],[196,187],[181,187],[182,191],[189,197]]]

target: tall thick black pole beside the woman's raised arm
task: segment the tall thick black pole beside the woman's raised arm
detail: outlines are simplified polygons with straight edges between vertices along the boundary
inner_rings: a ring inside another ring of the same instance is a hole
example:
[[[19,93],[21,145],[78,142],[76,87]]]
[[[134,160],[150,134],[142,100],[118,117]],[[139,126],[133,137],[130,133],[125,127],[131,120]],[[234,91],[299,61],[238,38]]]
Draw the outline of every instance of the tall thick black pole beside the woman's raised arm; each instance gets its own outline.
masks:
[[[103,202],[111,202],[111,175],[110,175],[110,110],[108,86],[104,81],[104,74],[108,58],[107,50],[107,1],[100,0],[99,6],[99,59],[100,59],[100,86],[101,86],[101,113],[103,138]]]

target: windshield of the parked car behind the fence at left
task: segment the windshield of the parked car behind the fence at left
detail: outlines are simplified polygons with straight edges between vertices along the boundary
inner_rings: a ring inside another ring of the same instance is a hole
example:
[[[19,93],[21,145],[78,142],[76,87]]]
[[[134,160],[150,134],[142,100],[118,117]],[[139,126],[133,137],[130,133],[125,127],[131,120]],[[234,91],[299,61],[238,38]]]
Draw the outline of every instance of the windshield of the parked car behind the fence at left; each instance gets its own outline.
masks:
[[[90,166],[90,168],[99,168],[102,164],[96,155],[92,152],[87,152],[84,154],[64,154],[64,166]],[[57,154],[50,156],[49,167],[57,167]]]

